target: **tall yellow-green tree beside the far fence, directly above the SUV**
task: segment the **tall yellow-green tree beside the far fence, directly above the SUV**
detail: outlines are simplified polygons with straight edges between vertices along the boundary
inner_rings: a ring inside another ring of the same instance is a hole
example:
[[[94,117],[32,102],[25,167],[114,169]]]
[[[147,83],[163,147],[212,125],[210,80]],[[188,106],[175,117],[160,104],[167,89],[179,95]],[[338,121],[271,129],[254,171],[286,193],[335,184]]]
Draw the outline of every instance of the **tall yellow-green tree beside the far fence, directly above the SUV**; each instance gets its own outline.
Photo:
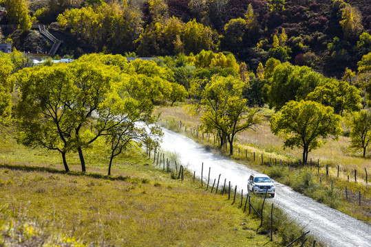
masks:
[[[215,75],[206,83],[200,103],[193,108],[193,113],[202,110],[200,128],[218,134],[220,148],[228,141],[231,155],[235,135],[248,128],[255,130],[261,121],[257,110],[248,108],[247,99],[242,97],[244,86],[244,82],[231,75],[226,78]]]

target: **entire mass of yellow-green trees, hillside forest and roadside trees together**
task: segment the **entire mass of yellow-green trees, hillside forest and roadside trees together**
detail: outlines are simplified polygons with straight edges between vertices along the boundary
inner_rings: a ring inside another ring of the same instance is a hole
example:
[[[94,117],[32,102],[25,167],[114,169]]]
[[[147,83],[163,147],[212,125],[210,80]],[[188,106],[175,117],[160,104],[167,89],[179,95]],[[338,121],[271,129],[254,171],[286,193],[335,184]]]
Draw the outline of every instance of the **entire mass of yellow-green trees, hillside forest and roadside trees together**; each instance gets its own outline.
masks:
[[[153,106],[186,98],[191,113],[201,116],[200,128],[218,136],[220,148],[229,145],[230,154],[236,134],[255,129],[262,121],[258,108],[266,105],[277,113],[272,132],[285,147],[302,148],[304,163],[308,152],[343,134],[345,120],[350,145],[365,157],[369,16],[354,7],[357,1],[293,3],[50,0],[40,8],[2,0],[1,21],[18,24],[14,33],[28,37],[30,23],[50,23],[50,30],[81,44],[76,51],[101,53],[36,67],[17,49],[0,53],[1,121],[18,119],[17,140],[58,150],[66,171],[69,152],[78,152],[85,171],[83,151],[98,139],[110,147],[109,173],[129,145],[156,148],[161,131],[153,126]],[[60,55],[76,56],[69,52],[64,47]]]

